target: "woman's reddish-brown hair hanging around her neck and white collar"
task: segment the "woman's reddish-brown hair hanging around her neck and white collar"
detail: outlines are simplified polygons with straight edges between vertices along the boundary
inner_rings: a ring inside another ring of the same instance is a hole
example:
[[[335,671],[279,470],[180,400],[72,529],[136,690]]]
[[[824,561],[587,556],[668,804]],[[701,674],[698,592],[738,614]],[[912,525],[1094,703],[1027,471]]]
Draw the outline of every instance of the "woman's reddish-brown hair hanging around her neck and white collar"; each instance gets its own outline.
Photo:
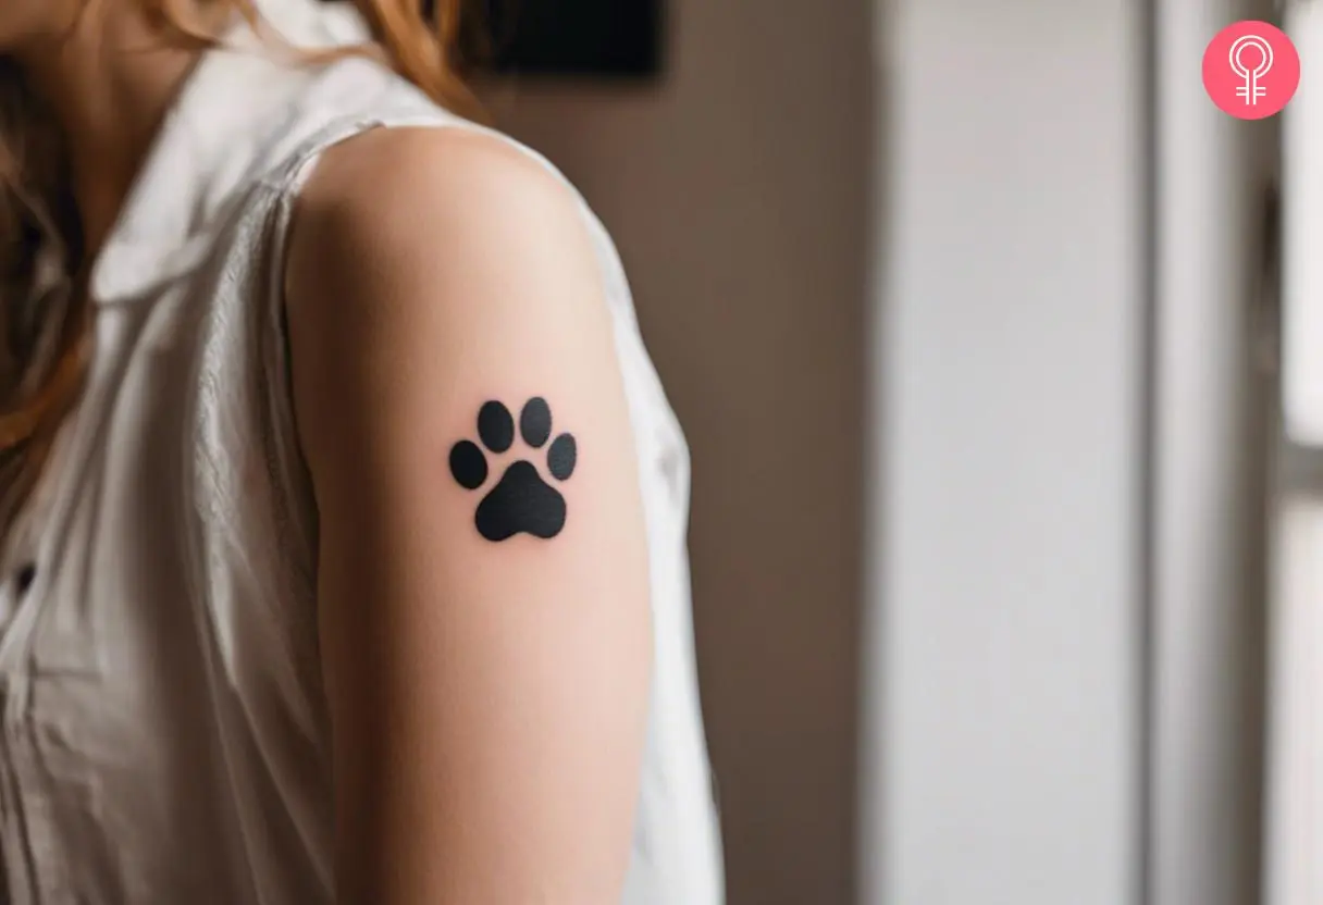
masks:
[[[191,13],[196,0],[139,0],[167,37],[214,44]],[[206,0],[258,24],[254,0]],[[339,53],[382,56],[438,103],[468,115],[476,103],[460,75],[464,0],[353,0],[374,44]],[[81,236],[58,163],[56,131],[22,75],[0,60],[0,532],[8,531],[77,401],[91,351],[86,294],[70,283],[81,269]],[[64,274],[38,258],[65,243]],[[60,280],[58,277],[64,277]]]

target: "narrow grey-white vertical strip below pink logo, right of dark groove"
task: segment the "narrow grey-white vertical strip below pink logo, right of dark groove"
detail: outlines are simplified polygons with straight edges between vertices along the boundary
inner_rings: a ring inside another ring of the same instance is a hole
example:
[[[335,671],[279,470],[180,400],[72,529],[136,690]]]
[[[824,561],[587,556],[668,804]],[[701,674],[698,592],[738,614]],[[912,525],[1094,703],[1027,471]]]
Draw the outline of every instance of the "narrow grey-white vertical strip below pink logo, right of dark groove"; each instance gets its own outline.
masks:
[[[1270,3],[1155,0],[1140,905],[1257,905],[1275,124],[1217,110],[1204,50]],[[1316,902],[1314,902],[1316,905]]]

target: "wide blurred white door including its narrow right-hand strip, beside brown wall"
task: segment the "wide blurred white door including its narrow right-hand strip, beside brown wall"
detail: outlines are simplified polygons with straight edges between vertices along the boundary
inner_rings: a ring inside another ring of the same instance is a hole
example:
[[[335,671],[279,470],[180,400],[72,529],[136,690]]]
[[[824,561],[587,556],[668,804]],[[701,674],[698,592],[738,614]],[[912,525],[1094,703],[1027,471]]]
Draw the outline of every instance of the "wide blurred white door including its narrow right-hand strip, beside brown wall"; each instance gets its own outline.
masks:
[[[881,9],[863,901],[1258,905],[1271,3]]]

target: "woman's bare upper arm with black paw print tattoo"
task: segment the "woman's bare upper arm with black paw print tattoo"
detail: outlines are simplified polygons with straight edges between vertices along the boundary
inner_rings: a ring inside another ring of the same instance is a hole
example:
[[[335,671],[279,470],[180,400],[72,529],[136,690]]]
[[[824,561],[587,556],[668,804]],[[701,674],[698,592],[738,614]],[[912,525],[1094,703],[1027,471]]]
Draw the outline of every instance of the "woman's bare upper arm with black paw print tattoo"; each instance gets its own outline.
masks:
[[[369,132],[302,193],[341,901],[618,902],[651,643],[602,291],[573,196],[487,136]]]

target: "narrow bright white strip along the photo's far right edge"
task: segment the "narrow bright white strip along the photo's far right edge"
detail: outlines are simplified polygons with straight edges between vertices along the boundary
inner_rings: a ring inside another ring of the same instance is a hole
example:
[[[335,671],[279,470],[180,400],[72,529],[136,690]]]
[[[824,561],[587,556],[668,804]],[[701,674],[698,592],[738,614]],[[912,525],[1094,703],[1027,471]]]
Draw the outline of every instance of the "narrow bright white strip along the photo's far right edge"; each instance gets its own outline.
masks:
[[[1266,905],[1323,901],[1323,8],[1286,4],[1281,430],[1273,495]]]

